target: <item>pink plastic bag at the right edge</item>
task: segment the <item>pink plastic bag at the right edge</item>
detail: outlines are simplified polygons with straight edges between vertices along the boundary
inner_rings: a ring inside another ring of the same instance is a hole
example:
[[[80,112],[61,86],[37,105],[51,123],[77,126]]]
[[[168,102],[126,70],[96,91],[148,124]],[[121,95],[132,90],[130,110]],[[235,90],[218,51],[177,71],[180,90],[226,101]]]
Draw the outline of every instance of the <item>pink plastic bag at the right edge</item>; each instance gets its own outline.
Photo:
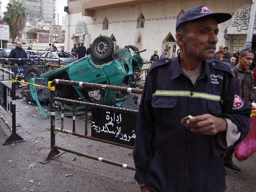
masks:
[[[245,139],[235,146],[235,158],[238,161],[244,161],[256,152],[256,116],[255,111],[252,111],[250,117],[250,132]]]

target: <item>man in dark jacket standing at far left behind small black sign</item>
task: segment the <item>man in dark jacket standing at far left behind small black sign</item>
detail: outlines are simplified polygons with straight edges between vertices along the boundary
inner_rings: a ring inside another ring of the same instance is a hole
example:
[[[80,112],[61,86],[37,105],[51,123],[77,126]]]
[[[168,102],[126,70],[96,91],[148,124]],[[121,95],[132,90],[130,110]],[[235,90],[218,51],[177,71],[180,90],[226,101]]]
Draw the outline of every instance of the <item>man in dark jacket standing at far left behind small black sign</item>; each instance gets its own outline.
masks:
[[[16,47],[13,48],[12,51],[10,52],[9,58],[27,58],[27,53],[25,50],[23,50],[21,42],[19,41],[17,42]],[[16,66],[24,66],[26,62],[14,61],[12,63],[13,65],[16,65]]]

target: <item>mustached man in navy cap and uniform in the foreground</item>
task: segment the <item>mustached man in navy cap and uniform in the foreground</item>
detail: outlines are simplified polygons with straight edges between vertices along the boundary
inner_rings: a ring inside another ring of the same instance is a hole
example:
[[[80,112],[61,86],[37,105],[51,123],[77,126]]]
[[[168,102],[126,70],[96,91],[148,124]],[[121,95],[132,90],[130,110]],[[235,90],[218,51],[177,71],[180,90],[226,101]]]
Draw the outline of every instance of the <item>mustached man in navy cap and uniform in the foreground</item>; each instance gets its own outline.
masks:
[[[147,73],[133,151],[141,191],[225,191],[223,154],[248,134],[250,116],[230,68],[212,60],[218,23],[231,17],[206,6],[183,13],[179,56]]]

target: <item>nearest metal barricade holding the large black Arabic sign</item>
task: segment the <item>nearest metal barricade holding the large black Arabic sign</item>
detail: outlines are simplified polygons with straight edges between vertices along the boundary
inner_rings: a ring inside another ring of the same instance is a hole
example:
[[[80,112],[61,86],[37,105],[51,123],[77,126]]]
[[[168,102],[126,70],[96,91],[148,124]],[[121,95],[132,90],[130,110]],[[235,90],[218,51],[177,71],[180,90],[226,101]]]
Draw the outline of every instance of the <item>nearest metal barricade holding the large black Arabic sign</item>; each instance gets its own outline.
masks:
[[[119,87],[110,85],[101,85],[96,83],[86,83],[86,82],[76,82],[67,80],[54,80],[55,85],[70,85],[70,86],[80,86],[85,88],[96,88],[104,90],[119,91],[123,93],[136,93],[141,94],[142,90],[139,88],[130,87]],[[61,102],[61,126],[56,127],[56,101]],[[64,106],[65,104],[71,104],[73,111],[73,122],[72,130],[65,129],[64,126]],[[83,134],[76,132],[76,106],[85,106],[85,131]],[[88,116],[91,115],[91,121],[89,121]],[[102,118],[105,117],[105,118]],[[47,156],[45,161],[41,163],[48,163],[49,161],[55,159],[57,156],[61,155],[62,151],[71,152],[72,154],[84,156],[93,160],[102,161],[104,163],[112,164],[115,166],[120,166],[122,168],[135,170],[134,167],[127,164],[118,163],[115,161],[103,159],[102,157],[93,156],[90,154],[85,154],[82,152],[67,149],[62,146],[56,145],[55,142],[55,132],[62,132],[64,134],[75,135],[78,137],[84,137],[86,139],[105,142],[107,144],[117,145],[126,147],[129,149],[133,148],[135,141],[135,126],[136,126],[137,111],[131,109],[123,109],[120,107],[106,106],[93,104],[90,102],[75,101],[70,99],[63,99],[55,96],[55,92],[51,91],[51,151]],[[105,121],[106,120],[106,124]],[[112,125],[112,126],[111,126]],[[116,126],[117,125],[117,126]],[[115,128],[114,128],[115,127]],[[124,128],[125,129],[122,129]],[[91,129],[91,135],[88,134],[88,129]]]

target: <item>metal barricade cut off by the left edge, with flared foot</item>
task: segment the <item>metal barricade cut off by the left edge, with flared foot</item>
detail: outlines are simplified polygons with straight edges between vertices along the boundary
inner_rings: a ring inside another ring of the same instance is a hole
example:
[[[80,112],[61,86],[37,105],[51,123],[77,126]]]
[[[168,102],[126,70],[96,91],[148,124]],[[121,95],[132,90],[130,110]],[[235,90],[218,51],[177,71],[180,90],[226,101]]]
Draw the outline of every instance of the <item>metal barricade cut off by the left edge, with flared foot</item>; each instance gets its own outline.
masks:
[[[3,71],[4,73],[7,73],[12,78],[15,78],[15,75],[13,72],[8,71],[2,67],[0,67],[0,71]],[[22,139],[21,136],[19,136],[16,133],[16,87],[15,83],[12,83],[12,86],[6,85],[3,81],[0,81],[0,105],[2,108],[7,112],[7,114],[11,115],[12,117],[12,126],[9,124],[8,121],[1,115],[1,119],[4,121],[4,123],[8,126],[9,129],[12,130],[11,136],[8,137],[8,139],[3,142],[3,145],[7,144],[13,144],[15,142],[23,142],[26,141]]]

